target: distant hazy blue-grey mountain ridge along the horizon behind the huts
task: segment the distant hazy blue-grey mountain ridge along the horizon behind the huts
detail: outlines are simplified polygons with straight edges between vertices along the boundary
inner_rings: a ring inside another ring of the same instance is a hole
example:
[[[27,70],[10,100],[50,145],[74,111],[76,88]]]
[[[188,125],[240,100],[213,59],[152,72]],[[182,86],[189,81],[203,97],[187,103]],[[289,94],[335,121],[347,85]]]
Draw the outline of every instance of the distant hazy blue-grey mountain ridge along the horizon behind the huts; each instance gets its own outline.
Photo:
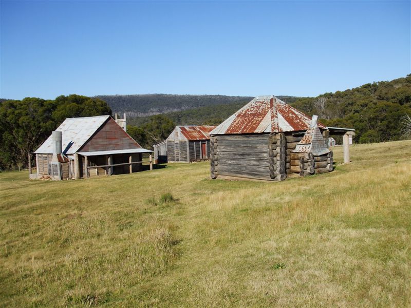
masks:
[[[113,113],[126,113],[127,118],[147,117],[154,114],[183,111],[213,105],[247,103],[253,97],[226,95],[173,95],[173,94],[135,94],[135,95],[97,95],[105,101]],[[278,97],[288,103],[294,97]]]

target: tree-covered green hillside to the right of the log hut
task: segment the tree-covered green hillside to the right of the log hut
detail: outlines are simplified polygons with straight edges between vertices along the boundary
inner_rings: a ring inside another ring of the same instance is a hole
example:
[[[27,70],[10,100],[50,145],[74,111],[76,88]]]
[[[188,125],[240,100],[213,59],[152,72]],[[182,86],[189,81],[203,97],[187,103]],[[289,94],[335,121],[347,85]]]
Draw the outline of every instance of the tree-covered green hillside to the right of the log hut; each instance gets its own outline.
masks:
[[[291,104],[317,114],[330,127],[356,129],[360,143],[394,141],[402,138],[401,121],[411,115],[411,74],[393,81],[380,81],[315,98],[300,98]]]

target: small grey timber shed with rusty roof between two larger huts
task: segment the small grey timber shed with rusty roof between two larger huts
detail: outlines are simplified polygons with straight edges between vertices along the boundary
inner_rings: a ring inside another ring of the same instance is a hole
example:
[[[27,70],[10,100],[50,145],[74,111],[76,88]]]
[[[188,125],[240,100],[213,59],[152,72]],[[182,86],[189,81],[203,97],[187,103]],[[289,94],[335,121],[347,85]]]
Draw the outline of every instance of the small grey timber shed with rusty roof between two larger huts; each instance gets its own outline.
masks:
[[[176,126],[169,137],[153,146],[156,163],[191,163],[210,159],[210,131],[216,126]]]

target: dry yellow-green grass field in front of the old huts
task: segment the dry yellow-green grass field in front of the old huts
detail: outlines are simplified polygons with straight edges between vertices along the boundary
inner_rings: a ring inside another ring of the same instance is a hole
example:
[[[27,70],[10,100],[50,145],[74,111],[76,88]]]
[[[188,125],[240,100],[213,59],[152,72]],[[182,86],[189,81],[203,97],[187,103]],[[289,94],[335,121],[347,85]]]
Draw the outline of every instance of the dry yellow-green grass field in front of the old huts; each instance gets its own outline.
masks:
[[[410,307],[411,141],[351,159],[281,183],[3,172],[0,306]]]

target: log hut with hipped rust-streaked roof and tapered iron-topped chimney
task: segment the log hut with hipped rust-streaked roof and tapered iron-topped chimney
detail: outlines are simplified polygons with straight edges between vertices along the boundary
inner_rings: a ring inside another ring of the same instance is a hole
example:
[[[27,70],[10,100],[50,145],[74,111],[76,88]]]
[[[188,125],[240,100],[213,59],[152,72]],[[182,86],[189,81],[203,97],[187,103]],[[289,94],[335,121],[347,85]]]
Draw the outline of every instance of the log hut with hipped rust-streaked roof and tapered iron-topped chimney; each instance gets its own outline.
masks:
[[[330,132],[353,129],[325,127],[274,95],[255,97],[210,132],[211,178],[283,181],[332,171]]]

